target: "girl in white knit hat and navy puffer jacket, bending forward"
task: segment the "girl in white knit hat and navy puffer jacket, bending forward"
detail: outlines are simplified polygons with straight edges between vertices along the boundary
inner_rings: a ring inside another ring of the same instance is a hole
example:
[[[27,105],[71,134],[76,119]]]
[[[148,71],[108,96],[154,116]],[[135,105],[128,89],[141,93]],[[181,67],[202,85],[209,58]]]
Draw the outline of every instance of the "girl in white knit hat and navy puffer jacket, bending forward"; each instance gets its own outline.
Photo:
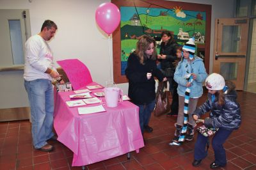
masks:
[[[226,86],[225,86],[226,85]],[[205,86],[209,90],[207,101],[198,107],[193,113],[194,120],[198,120],[205,112],[210,112],[210,118],[205,118],[203,123],[206,128],[218,128],[212,138],[212,148],[214,150],[214,162],[210,167],[216,169],[227,164],[225,149],[223,144],[228,136],[239,128],[241,124],[240,106],[236,102],[237,94],[234,83],[224,80],[218,73],[212,73],[205,80]],[[198,166],[203,158],[207,156],[208,137],[198,133],[193,166]]]

